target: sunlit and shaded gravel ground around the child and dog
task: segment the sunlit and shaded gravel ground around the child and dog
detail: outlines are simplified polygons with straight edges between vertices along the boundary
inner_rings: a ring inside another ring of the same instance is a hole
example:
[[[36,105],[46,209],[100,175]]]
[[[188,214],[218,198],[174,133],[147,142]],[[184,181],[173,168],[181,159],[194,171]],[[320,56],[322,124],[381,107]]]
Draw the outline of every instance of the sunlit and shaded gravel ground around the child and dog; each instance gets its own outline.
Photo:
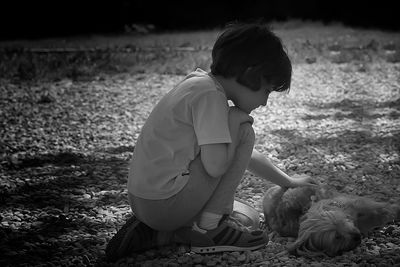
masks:
[[[375,42],[365,51],[332,47],[324,58],[296,61],[291,92],[273,94],[252,114],[256,147],[290,175],[399,202],[400,63],[393,55],[400,46],[390,52]],[[385,51],[389,56],[362,56]],[[271,233],[254,252],[198,255],[179,246],[105,262],[108,240],[130,216],[127,164],[140,128],[183,76],[141,70],[74,77],[0,79],[1,266],[400,266],[398,223],[334,258],[288,255],[292,240]],[[237,197],[261,212],[270,186],[246,173]]]

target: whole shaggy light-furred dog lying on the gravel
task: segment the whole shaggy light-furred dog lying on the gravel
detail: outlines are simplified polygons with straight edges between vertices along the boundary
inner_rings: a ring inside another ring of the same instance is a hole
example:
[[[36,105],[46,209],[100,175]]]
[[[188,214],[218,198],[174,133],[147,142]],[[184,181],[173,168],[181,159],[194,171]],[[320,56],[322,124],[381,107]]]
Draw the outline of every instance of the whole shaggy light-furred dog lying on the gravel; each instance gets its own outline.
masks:
[[[334,193],[323,187],[270,188],[263,200],[266,224],[281,236],[297,237],[289,252],[339,255],[362,236],[400,220],[400,205]]]

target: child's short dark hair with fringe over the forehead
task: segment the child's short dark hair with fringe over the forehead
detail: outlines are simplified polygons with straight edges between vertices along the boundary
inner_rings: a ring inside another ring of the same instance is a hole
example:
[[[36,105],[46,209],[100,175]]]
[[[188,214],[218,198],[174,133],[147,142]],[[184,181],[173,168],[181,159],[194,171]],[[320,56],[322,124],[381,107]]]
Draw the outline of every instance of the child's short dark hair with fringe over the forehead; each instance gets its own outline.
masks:
[[[231,23],[214,44],[211,73],[236,77],[253,91],[260,90],[263,78],[282,92],[290,88],[292,64],[281,39],[266,24]]]

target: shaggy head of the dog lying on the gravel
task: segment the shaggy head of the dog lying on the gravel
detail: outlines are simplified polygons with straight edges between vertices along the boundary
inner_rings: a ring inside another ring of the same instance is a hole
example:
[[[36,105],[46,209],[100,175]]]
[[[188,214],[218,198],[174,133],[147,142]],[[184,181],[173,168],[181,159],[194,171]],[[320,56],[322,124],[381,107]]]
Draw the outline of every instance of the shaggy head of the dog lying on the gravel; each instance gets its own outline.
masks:
[[[339,255],[361,243],[361,233],[340,208],[329,208],[330,200],[321,200],[301,218],[297,240],[289,252],[297,255]]]

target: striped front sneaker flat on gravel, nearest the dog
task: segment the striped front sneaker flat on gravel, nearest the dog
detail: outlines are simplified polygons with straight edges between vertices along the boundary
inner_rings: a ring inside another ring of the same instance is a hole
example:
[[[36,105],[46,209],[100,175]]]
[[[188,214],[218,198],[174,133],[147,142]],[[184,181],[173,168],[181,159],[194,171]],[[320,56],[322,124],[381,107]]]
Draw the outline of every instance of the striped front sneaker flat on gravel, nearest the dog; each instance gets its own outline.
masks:
[[[269,241],[265,231],[251,230],[228,215],[212,230],[200,229],[194,223],[189,238],[191,250],[196,253],[255,250]]]

